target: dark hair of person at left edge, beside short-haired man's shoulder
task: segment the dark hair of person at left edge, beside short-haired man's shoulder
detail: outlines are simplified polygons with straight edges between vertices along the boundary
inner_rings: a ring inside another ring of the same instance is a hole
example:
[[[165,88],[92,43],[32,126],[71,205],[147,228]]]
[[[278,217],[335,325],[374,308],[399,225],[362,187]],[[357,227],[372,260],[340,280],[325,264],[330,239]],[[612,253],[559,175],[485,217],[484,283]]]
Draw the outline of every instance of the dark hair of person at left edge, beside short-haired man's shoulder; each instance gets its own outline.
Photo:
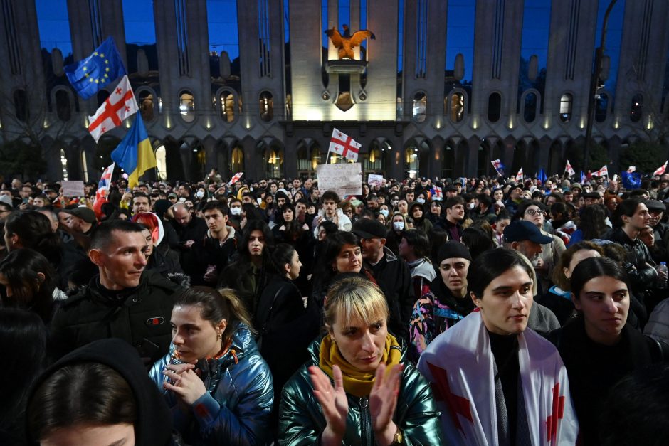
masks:
[[[11,288],[11,297],[3,299],[6,306],[31,309],[45,324],[51,321],[56,272],[46,257],[29,248],[14,250],[0,262],[0,274]]]

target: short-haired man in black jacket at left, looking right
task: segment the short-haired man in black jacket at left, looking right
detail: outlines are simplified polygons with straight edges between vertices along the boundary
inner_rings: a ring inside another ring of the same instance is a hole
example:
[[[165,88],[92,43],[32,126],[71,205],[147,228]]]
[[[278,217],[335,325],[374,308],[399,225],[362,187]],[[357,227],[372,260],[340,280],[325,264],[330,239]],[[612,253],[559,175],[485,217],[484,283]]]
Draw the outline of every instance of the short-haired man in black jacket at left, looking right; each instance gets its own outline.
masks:
[[[99,275],[53,317],[53,356],[106,338],[127,341],[146,363],[167,354],[172,302],[181,288],[158,272],[144,271],[146,251],[147,241],[135,223],[109,221],[96,228],[88,257]]]

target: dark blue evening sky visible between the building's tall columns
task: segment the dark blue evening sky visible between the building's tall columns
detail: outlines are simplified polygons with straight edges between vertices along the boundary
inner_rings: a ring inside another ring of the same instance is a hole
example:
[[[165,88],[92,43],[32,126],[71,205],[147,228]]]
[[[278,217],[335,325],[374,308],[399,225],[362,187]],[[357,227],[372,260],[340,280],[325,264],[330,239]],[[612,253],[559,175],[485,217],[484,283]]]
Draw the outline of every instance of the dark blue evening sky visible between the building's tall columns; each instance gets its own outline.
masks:
[[[560,0],[557,0],[560,1]],[[403,20],[402,11],[404,0],[399,0],[399,21]],[[284,0],[285,10],[288,10],[288,0]],[[596,41],[599,43],[601,22],[604,10],[609,0],[599,0],[599,19],[597,23]],[[155,43],[156,36],[153,20],[152,0],[122,0],[123,17],[127,43],[150,44]],[[211,51],[227,51],[231,59],[239,54],[238,29],[236,18],[236,0],[207,0],[209,46]],[[367,24],[367,1],[361,1],[361,27]],[[522,28],[523,58],[530,58],[536,54],[539,58],[539,68],[545,68],[547,61],[548,35],[550,27],[551,0],[525,0],[524,20]],[[60,48],[63,55],[72,51],[70,41],[69,21],[66,0],[36,0],[38,23],[42,46]],[[622,22],[625,0],[618,0],[609,19],[606,53],[611,56],[611,78],[607,87],[611,89],[615,81],[618,56],[622,34]],[[349,22],[349,0],[339,1],[339,25]],[[327,0],[322,0],[323,29],[327,28]],[[446,24],[446,70],[453,70],[455,55],[463,53],[465,58],[465,80],[471,80],[473,50],[474,50],[474,0],[449,0],[448,23]],[[401,27],[401,26],[400,26]],[[288,29],[288,23],[285,23]],[[374,31],[374,30],[372,30]],[[323,34],[323,45],[327,45],[327,38]],[[401,69],[403,45],[402,36],[399,36],[398,67]],[[594,48],[593,48],[594,50]]]

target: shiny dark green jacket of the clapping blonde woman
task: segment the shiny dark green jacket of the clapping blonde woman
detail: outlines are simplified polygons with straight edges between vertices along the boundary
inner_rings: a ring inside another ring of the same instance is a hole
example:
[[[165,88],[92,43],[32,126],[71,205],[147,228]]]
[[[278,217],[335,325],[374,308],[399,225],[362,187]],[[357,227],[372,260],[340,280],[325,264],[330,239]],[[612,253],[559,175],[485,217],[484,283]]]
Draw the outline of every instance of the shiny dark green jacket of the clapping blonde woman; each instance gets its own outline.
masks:
[[[321,339],[309,348],[310,359],[286,383],[279,410],[280,445],[317,445],[327,425],[320,403],[314,395],[309,366],[318,366]],[[399,395],[393,421],[404,432],[403,445],[443,445],[439,413],[432,391],[420,372],[406,361],[402,349],[400,363],[404,371],[399,381]],[[342,445],[375,445],[369,398],[346,394],[349,412]]]

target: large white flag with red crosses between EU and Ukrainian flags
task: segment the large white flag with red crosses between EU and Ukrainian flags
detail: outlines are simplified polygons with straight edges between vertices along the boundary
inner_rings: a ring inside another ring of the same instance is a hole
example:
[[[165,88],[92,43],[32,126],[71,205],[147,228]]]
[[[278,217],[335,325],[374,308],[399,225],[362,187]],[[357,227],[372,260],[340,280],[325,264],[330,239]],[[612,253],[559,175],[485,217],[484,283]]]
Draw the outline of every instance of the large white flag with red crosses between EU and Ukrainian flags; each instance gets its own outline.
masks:
[[[107,100],[100,105],[95,115],[88,117],[88,132],[90,132],[95,142],[100,140],[102,134],[121,125],[125,118],[129,117],[138,110],[135,93],[130,87],[130,80],[127,75],[121,78],[121,81],[107,97]]]

